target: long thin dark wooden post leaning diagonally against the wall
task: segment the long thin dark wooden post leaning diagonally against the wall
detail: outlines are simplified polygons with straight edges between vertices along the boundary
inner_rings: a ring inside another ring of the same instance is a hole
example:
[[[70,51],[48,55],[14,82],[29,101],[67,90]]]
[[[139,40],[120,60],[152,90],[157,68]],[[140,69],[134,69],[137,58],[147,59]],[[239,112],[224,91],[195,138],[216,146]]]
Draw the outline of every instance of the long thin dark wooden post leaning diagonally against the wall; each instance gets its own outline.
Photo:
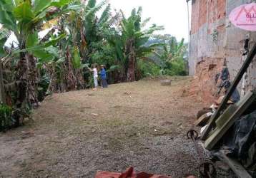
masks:
[[[201,140],[206,140],[207,139],[209,133],[212,130],[212,127],[215,126],[215,121],[220,116],[220,113],[222,112],[222,110],[225,109],[225,107],[227,105],[227,101],[230,100],[230,97],[231,97],[232,93],[235,91],[235,88],[237,88],[238,83],[240,83],[240,80],[242,79],[242,76],[246,73],[247,68],[250,66],[250,63],[252,62],[253,58],[255,57],[255,54],[256,54],[256,43],[253,46],[250,53],[248,54],[247,59],[245,60],[245,63],[242,65],[242,68],[240,68],[239,73],[237,73],[237,76],[236,76],[235,80],[233,81],[230,89],[227,91],[227,95],[225,95],[225,98],[222,100],[222,103],[220,104],[220,107],[215,112],[215,114],[212,115],[212,117],[210,119],[210,122],[209,122],[209,125],[207,126],[205,131],[202,133]]]

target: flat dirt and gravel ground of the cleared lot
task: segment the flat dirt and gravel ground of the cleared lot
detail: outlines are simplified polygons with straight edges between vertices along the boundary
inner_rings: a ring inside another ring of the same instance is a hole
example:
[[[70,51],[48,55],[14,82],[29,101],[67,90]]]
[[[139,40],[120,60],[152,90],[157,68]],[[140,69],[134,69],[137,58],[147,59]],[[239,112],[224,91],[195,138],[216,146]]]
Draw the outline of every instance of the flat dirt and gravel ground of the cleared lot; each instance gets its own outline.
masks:
[[[23,127],[0,133],[0,177],[88,177],[98,170],[198,176],[185,135],[204,106],[192,78],[110,85],[51,95]],[[219,174],[218,177],[227,177]]]

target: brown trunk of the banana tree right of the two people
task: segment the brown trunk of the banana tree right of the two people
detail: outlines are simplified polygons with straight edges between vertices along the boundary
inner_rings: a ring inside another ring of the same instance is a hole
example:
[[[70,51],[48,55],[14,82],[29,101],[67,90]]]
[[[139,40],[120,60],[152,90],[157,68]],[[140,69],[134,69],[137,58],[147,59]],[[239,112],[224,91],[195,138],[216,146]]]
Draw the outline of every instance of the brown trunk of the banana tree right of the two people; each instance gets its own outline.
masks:
[[[134,39],[127,40],[126,54],[128,55],[127,82],[135,81],[136,54],[134,50]]]

